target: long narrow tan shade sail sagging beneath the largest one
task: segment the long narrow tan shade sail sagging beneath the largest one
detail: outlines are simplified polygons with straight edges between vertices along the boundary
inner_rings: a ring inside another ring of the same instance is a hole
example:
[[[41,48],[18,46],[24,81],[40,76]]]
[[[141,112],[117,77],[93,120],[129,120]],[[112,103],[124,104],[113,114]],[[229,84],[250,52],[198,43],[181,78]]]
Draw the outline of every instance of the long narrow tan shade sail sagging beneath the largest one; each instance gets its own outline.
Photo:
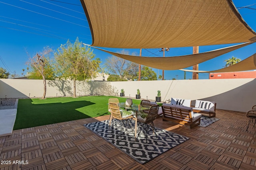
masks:
[[[116,57],[120,57],[122,59],[126,59],[134,63],[142,64],[152,68],[157,68],[161,70],[178,70],[178,69],[187,68],[189,66],[193,66],[195,64],[213,59],[215,57],[218,57],[230,51],[239,49],[249,44],[252,44],[252,42],[243,43],[240,45],[234,45],[231,47],[209,51],[206,53],[183,55],[183,56],[176,56],[176,57],[139,57],[139,56],[114,53],[114,52],[100,49],[97,47],[93,47],[93,48],[99,49],[101,51],[105,51],[106,53],[115,55]]]

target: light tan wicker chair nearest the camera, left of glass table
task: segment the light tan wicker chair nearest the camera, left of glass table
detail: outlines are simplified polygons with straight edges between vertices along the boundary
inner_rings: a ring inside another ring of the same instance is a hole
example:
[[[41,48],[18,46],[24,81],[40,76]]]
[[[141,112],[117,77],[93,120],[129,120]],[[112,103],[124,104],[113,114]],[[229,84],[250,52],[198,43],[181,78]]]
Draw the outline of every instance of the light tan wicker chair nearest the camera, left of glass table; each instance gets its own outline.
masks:
[[[124,127],[124,121],[126,123],[129,123],[130,124],[130,127],[132,128],[132,123],[131,123],[131,120],[133,118],[133,114],[132,112],[130,111],[126,111],[126,110],[122,110],[120,111],[119,107],[118,107],[118,104],[116,103],[112,103],[110,102],[109,103],[110,105],[110,111],[111,111],[111,118],[110,118],[110,122],[112,121],[112,119],[117,119],[119,120],[119,123],[120,123],[120,135],[122,136],[122,128]],[[130,122],[128,121],[128,119],[130,119]],[[113,120],[113,123],[112,123],[112,131],[113,131],[113,127],[114,127],[114,120]],[[116,123],[117,124],[117,123]],[[133,130],[132,130],[133,131]]]

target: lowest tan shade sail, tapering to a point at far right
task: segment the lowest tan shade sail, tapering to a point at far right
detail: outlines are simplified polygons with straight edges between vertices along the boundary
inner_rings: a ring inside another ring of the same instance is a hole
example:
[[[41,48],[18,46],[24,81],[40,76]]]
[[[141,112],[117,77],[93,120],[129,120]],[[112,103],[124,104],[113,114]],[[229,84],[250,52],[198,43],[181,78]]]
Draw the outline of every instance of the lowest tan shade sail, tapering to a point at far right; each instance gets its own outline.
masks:
[[[180,69],[182,71],[189,71],[189,72],[203,72],[203,73],[210,73],[210,72],[237,72],[237,71],[247,71],[247,70],[255,70],[256,69],[256,53],[239,63],[236,63],[232,66],[228,66],[219,70],[212,70],[212,71],[200,71],[200,70],[186,70]]]

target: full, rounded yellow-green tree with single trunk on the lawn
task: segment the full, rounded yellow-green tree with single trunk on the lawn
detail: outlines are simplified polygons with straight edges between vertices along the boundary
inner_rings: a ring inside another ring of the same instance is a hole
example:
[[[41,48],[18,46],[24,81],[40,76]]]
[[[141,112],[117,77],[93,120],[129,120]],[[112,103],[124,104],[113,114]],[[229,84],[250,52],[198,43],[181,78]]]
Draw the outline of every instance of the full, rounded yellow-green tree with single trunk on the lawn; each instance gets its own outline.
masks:
[[[65,80],[73,80],[74,94],[76,97],[76,80],[86,80],[96,77],[100,68],[100,59],[94,59],[95,54],[90,47],[82,46],[82,42],[76,38],[74,44],[68,40],[60,45],[54,54],[56,61],[56,76]]]

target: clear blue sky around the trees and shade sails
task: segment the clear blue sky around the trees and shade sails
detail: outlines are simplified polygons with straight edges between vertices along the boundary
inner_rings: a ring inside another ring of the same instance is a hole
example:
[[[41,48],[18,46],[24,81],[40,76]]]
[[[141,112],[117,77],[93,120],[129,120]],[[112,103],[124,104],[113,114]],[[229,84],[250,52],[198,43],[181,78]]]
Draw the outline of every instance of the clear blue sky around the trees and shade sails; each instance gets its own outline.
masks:
[[[235,6],[250,6],[256,8],[255,0],[234,0]],[[56,50],[68,39],[75,41],[76,37],[86,44],[91,44],[91,33],[80,0],[0,0],[0,67],[5,68],[11,74],[21,76],[22,69],[26,70],[28,55],[34,56],[46,46]],[[256,31],[256,10],[242,8],[238,10],[246,23]],[[233,45],[233,44],[232,44]],[[200,46],[199,52],[206,52],[230,45]],[[106,48],[107,49],[107,48]],[[107,49],[118,52],[122,49]],[[129,49],[139,54],[139,49]],[[232,51],[215,59],[199,64],[199,70],[216,70],[223,68],[224,60],[234,56],[246,59],[256,52],[256,43]],[[94,49],[96,57],[105,63],[110,57]],[[192,47],[171,48],[165,56],[177,56],[192,54]],[[160,56],[160,49],[142,49],[142,56]],[[192,69],[188,68],[188,69]],[[162,70],[153,69],[156,74],[162,74]],[[26,73],[26,71],[25,71]],[[172,78],[183,79],[184,72],[179,70],[166,70],[166,80]],[[186,73],[186,79],[192,78],[191,73]],[[207,73],[200,73],[200,79],[208,79]]]

